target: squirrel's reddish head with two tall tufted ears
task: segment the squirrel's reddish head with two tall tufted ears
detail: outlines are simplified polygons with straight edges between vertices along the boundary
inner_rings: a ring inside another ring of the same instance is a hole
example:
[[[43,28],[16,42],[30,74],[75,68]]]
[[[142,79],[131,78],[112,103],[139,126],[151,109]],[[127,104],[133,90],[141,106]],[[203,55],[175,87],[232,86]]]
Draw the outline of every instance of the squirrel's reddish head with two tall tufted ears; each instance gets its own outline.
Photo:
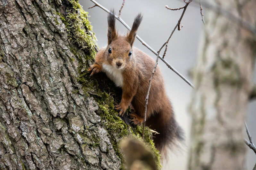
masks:
[[[136,31],[141,23],[142,15],[139,13],[132,24],[132,29],[126,35],[118,35],[115,30],[115,12],[112,10],[107,17],[107,48],[106,56],[110,65],[122,69],[131,61],[132,44],[136,37]]]

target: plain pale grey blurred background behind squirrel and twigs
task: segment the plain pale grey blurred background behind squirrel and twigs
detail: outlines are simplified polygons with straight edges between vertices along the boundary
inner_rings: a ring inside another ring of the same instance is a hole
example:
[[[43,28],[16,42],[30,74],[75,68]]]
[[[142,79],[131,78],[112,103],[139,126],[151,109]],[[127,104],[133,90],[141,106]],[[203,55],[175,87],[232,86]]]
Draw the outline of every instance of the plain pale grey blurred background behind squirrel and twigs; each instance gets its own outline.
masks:
[[[83,6],[83,9],[89,12],[89,21],[91,22],[93,31],[98,39],[98,47],[101,48],[107,45],[107,12],[99,7],[88,9],[94,5],[90,0],[80,0],[79,2]],[[116,14],[118,15],[123,0],[97,0],[97,2],[108,10],[115,9]],[[182,13],[182,10],[168,10],[165,8],[165,5],[168,5],[169,8],[178,8],[183,6],[184,2],[183,0],[126,0],[121,13],[121,18],[130,27],[132,26],[134,17],[139,12],[143,14],[143,20],[137,31],[137,35],[139,35],[155,51],[158,51],[161,45],[165,43]],[[206,9],[203,8],[203,12],[204,17],[207,17]],[[198,45],[203,28],[199,4],[192,2],[188,6],[181,25],[183,25],[182,29],[180,31],[176,30],[168,43],[165,59],[179,73],[192,82],[191,77],[189,76],[189,71],[196,63]],[[118,29],[120,34],[127,32],[127,29],[118,20],[116,20],[116,29]],[[143,46],[139,40],[136,39],[133,46],[144,51],[153,59],[156,59],[156,56]],[[163,51],[164,50],[162,50],[161,55],[163,54]],[[189,113],[191,92],[193,89],[177,74],[170,70],[161,60],[159,60],[158,64],[165,79],[166,92],[172,101],[176,120],[183,128],[186,138],[180,149],[174,148],[174,151],[168,151],[168,158],[162,163],[162,166],[164,170],[187,169],[189,143],[190,138],[193,137],[190,136],[191,115]],[[254,82],[256,82],[255,73],[253,79]],[[256,143],[255,112],[256,100],[251,101],[248,105],[246,120],[254,143]],[[247,139],[246,133],[244,134]],[[256,155],[249,149],[249,147],[247,147],[247,150],[247,168],[252,169],[256,162]]]

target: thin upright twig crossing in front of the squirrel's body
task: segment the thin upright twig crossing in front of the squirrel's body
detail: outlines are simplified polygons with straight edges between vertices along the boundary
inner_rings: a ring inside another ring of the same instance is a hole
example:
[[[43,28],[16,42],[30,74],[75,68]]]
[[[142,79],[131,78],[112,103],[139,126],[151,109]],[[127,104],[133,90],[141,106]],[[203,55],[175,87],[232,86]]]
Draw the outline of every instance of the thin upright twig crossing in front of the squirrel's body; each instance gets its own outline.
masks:
[[[183,15],[184,15],[184,13],[185,13],[185,11],[186,11],[186,9],[187,9],[187,6],[189,5],[190,2],[192,2],[192,0],[189,0],[189,1],[185,4],[185,7],[184,7],[184,10],[183,10],[183,12],[182,12],[182,14],[181,14],[181,16],[180,16],[180,19],[178,20],[177,24],[176,24],[175,27],[173,28],[173,30],[172,30],[171,34],[169,35],[169,37],[167,38],[166,42],[165,42],[165,43],[160,47],[160,49],[158,50],[156,63],[155,63],[154,69],[153,69],[153,71],[152,71],[151,77],[150,77],[150,79],[149,79],[149,89],[148,89],[147,96],[146,96],[146,99],[145,99],[145,112],[144,112],[144,123],[143,123],[143,131],[142,131],[142,140],[144,139],[144,129],[145,129],[145,125],[146,125],[147,105],[148,105],[148,100],[149,100],[149,91],[150,91],[150,87],[151,87],[152,78],[153,78],[154,73],[155,73],[156,68],[157,68],[159,53],[160,53],[160,51],[163,49],[163,47],[168,44],[168,42],[169,42],[170,38],[172,37],[174,31],[175,31],[176,28],[180,25],[180,22],[181,22],[181,20],[182,20],[182,18],[183,18]],[[167,48],[167,46],[166,46],[166,48]],[[167,50],[167,49],[166,49],[166,50]],[[163,56],[165,56],[166,50],[164,51]]]

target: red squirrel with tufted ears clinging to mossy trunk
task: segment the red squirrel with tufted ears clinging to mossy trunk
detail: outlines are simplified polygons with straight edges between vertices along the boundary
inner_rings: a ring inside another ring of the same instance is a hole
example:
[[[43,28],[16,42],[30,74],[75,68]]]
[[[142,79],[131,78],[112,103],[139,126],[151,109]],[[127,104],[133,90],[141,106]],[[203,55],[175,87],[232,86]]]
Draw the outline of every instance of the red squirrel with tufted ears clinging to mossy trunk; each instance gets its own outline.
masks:
[[[90,75],[104,72],[122,88],[120,104],[115,104],[119,116],[123,116],[129,104],[135,110],[130,113],[132,124],[141,125],[144,120],[145,98],[149,88],[149,79],[155,61],[141,50],[132,47],[142,15],[138,14],[132,29],[126,35],[119,35],[115,30],[115,14],[111,11],[107,18],[107,46],[102,47],[95,56],[95,63],[90,66]],[[146,126],[157,131],[153,141],[160,153],[166,146],[175,144],[176,139],[183,139],[183,131],[177,124],[170,100],[166,96],[163,76],[156,67],[149,92]]]

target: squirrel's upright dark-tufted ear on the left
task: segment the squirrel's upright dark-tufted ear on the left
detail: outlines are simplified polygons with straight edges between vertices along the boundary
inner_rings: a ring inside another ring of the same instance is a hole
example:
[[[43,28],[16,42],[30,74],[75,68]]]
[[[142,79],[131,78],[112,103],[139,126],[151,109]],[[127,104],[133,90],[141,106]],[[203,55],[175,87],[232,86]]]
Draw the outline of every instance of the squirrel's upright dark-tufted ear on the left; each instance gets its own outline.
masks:
[[[114,39],[117,38],[117,33],[115,31],[115,11],[111,10],[107,16],[107,44],[109,45]]]

